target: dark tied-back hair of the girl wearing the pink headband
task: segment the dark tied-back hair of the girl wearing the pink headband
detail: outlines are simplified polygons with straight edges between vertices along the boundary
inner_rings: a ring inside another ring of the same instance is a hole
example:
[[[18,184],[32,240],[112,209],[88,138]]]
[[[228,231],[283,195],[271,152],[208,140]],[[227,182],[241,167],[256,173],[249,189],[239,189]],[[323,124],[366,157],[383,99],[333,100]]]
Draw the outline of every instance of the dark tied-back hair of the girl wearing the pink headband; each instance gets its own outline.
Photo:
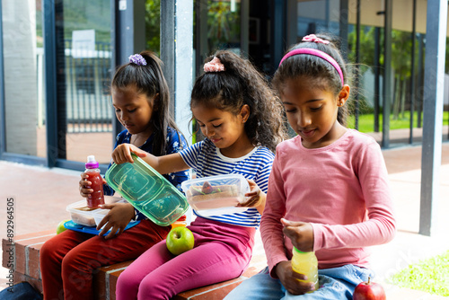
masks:
[[[318,49],[325,52],[334,58],[339,64],[345,84],[348,82],[348,73],[346,64],[341,57],[339,49],[336,44],[338,40],[324,34],[317,34],[318,38],[322,40],[329,40],[329,44],[315,43],[304,41],[296,44],[292,48],[288,49],[286,53],[301,48]],[[277,89],[278,93],[282,94],[286,87],[286,81],[288,79],[295,79],[300,76],[312,77],[315,79],[316,87],[322,90],[331,90],[335,95],[338,95],[341,90],[341,79],[339,73],[334,66],[321,57],[315,57],[313,55],[295,55],[286,58],[285,61],[277,68],[277,71],[273,77],[272,84]],[[340,106],[337,120],[343,126],[346,126],[346,119],[348,117],[348,105]]]

